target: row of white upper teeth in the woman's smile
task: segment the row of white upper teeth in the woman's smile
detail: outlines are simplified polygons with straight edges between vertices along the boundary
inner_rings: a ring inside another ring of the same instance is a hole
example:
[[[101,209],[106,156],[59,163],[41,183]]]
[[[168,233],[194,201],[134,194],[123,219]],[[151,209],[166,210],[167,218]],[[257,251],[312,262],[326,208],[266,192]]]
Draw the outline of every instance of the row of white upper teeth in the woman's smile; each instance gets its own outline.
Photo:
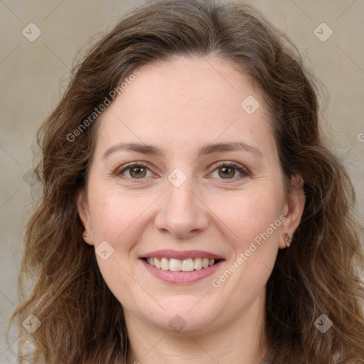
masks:
[[[195,258],[195,259],[168,259],[163,257],[159,258],[146,258],[146,262],[152,267],[159,269],[170,270],[171,272],[192,272],[193,270],[199,270],[208,268],[215,264],[215,259],[208,258]]]

